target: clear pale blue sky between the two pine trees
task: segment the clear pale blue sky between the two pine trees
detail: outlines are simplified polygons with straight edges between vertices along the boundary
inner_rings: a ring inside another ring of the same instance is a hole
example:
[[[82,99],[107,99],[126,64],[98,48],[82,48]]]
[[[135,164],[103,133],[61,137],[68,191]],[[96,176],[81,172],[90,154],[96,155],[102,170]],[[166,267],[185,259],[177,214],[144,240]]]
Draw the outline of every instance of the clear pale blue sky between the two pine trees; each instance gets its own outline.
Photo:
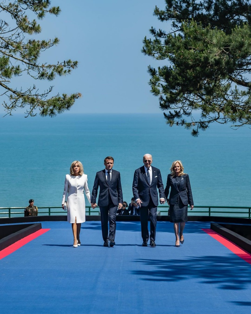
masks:
[[[51,5],[59,5],[61,14],[47,15],[39,22],[41,34],[33,37],[58,37],[60,43],[42,52],[41,62],[71,58],[79,66],[67,77],[35,81],[40,91],[54,85],[53,95],[80,92],[71,113],[161,113],[147,73],[147,66],[158,62],[141,49],[151,26],[168,28],[153,16],[156,5],[164,8],[164,0],[51,0]],[[34,82],[23,76],[16,84],[24,88]]]

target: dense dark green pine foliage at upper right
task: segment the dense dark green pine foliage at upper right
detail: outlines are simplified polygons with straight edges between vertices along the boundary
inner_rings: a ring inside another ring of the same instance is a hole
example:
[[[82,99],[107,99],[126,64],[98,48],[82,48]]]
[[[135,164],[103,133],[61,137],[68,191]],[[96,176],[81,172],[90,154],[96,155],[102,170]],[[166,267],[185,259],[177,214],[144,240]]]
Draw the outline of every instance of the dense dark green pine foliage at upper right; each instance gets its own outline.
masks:
[[[169,31],[152,27],[142,49],[167,62],[148,67],[167,124],[192,128],[193,136],[212,122],[251,124],[250,2],[166,0],[154,15],[172,22]]]

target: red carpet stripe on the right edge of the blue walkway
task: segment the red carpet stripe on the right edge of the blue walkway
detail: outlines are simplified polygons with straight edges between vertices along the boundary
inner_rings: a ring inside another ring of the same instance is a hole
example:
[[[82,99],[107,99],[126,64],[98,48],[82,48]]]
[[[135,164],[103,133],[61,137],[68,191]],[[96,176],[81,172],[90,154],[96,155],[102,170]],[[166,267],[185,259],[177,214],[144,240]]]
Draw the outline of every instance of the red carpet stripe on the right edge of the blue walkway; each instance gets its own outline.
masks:
[[[209,236],[226,246],[231,252],[236,254],[238,257],[244,259],[247,263],[251,264],[251,254],[244,251],[242,248],[234,244],[232,241],[227,240],[223,236],[219,235],[215,231],[211,229],[202,229],[205,231]]]

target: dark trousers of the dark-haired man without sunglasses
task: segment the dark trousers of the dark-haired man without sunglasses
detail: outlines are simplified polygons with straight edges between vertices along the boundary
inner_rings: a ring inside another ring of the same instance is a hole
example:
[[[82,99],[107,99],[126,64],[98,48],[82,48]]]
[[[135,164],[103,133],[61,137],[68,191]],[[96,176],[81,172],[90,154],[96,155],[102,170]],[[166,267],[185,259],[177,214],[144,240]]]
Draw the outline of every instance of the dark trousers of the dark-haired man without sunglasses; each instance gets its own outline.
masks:
[[[103,240],[107,241],[115,239],[116,233],[116,214],[118,206],[109,203],[108,206],[99,206],[101,216],[101,230]],[[108,237],[108,221],[109,221],[109,237]]]

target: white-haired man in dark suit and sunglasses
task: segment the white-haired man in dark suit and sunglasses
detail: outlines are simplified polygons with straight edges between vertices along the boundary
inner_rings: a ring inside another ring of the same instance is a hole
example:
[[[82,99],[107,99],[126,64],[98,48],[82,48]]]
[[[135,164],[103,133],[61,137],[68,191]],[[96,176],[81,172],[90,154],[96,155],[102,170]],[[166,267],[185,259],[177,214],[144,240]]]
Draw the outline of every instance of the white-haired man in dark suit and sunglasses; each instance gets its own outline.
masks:
[[[160,203],[165,203],[164,187],[160,170],[152,167],[152,155],[145,154],[144,165],[134,172],[132,192],[137,205],[140,207],[142,246],[147,246],[149,239],[148,216],[150,219],[150,246],[156,246],[155,234],[157,225],[158,192]]]

